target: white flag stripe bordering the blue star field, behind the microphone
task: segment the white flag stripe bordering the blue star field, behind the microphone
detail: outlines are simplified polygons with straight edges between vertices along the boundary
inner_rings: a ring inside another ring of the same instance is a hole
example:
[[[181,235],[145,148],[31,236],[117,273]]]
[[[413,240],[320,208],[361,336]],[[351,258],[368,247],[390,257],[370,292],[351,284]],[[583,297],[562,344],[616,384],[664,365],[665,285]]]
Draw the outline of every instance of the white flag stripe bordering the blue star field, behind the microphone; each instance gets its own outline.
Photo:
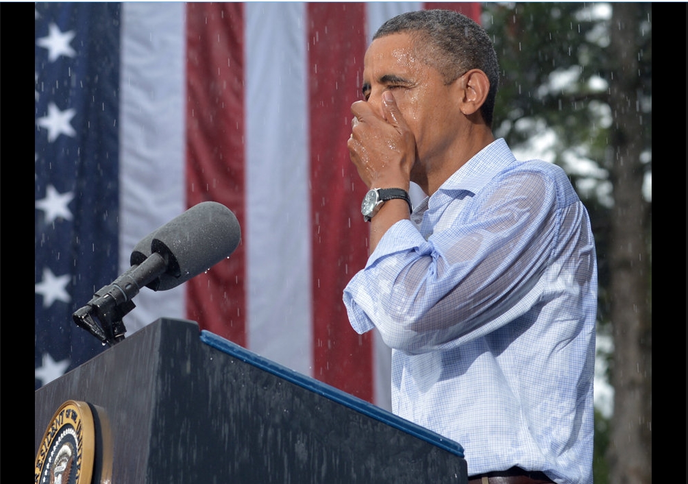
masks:
[[[120,271],[136,243],[186,210],[184,3],[122,3]],[[142,290],[127,336],[160,317],[185,317],[184,285]]]

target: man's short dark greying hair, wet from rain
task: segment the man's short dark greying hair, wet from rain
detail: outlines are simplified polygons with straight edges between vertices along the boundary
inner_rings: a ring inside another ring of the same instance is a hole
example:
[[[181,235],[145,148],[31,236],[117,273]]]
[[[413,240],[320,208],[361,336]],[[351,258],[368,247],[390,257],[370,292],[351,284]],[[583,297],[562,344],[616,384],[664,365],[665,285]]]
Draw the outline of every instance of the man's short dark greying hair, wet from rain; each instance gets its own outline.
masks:
[[[471,69],[480,69],[487,75],[490,90],[480,107],[480,114],[491,127],[499,86],[499,63],[484,28],[459,12],[420,10],[389,19],[378,28],[373,40],[400,33],[412,36],[424,61],[440,72],[444,83],[453,83]]]

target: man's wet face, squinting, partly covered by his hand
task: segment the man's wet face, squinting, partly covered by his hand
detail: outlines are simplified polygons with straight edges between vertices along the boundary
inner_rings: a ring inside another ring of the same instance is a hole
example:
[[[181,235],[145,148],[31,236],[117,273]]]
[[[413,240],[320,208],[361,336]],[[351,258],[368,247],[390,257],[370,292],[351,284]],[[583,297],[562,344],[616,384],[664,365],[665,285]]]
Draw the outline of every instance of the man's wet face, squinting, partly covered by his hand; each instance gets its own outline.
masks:
[[[462,118],[455,102],[456,82],[445,85],[440,72],[418,52],[409,34],[391,34],[372,42],[363,65],[365,100],[382,116],[382,93],[391,91],[416,138],[411,180],[451,157]]]

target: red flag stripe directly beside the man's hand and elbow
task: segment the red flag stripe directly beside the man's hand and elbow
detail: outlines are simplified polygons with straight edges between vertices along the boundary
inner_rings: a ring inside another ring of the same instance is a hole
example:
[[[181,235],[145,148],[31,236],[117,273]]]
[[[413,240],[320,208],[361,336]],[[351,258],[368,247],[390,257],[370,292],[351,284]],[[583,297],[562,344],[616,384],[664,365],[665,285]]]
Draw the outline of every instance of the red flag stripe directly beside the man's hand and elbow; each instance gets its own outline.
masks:
[[[364,3],[308,3],[314,377],[372,401],[372,334],[352,330],[344,287],[367,259],[366,187],[346,146],[360,98]]]

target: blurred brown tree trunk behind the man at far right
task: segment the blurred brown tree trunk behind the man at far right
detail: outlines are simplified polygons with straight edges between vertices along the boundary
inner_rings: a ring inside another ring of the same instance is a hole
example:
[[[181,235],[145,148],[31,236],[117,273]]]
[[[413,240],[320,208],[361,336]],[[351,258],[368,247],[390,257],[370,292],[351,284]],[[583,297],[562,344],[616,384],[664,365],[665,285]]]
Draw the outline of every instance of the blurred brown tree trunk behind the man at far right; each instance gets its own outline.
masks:
[[[614,118],[614,186],[610,244],[614,415],[609,463],[612,484],[652,483],[652,315],[649,308],[649,207],[643,200],[643,112],[639,106],[638,24],[641,3],[612,3],[610,80]]]

